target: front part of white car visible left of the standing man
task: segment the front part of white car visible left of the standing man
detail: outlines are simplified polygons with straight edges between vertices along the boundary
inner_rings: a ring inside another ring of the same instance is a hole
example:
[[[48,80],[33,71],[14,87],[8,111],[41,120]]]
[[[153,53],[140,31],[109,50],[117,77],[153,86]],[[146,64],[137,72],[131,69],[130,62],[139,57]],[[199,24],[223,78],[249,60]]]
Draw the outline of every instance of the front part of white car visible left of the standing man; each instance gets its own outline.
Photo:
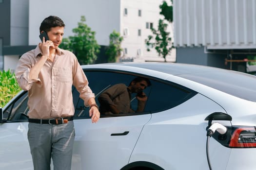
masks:
[[[27,139],[27,93],[22,91],[3,108],[0,123],[0,169],[33,170]]]

